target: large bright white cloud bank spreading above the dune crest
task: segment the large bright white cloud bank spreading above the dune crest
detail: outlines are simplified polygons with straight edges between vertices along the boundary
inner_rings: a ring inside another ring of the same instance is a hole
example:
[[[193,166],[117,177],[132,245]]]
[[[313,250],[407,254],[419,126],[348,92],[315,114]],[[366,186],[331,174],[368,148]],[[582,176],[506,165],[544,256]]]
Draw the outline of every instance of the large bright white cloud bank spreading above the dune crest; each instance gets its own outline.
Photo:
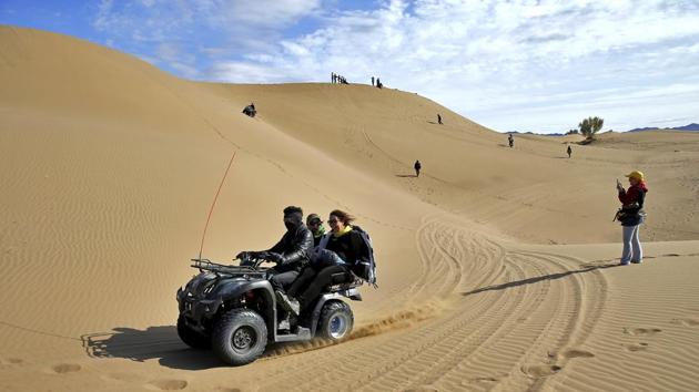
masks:
[[[388,86],[419,92],[502,131],[553,132],[577,123],[582,110],[614,116],[619,112],[614,105],[647,110],[656,100],[668,106],[658,100],[676,92],[662,84],[676,82],[687,65],[667,65],[663,54],[675,45],[695,53],[699,38],[699,13],[679,12],[662,1],[530,3],[392,1],[373,11],[333,16],[324,28],[266,52],[264,63],[247,59],[259,72],[275,71],[287,80],[324,81],[330,71],[351,82],[378,75]],[[660,55],[630,63],[646,51]],[[699,62],[696,53],[692,59]],[[241,75],[215,73],[232,82],[243,81]],[[618,95],[600,100],[617,80]],[[644,82],[651,85],[639,96],[636,86]],[[576,91],[582,93],[567,97]],[[557,112],[544,117],[547,110]],[[527,111],[538,115],[526,116]],[[608,124],[624,122],[632,120],[608,116]]]

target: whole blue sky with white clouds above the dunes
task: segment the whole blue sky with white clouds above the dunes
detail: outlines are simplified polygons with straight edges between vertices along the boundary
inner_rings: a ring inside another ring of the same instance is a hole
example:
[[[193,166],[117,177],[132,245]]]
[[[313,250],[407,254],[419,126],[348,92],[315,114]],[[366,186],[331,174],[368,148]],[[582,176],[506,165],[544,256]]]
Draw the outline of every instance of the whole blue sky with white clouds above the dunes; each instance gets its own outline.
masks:
[[[377,76],[499,132],[699,123],[699,0],[0,0],[0,24],[196,81]]]

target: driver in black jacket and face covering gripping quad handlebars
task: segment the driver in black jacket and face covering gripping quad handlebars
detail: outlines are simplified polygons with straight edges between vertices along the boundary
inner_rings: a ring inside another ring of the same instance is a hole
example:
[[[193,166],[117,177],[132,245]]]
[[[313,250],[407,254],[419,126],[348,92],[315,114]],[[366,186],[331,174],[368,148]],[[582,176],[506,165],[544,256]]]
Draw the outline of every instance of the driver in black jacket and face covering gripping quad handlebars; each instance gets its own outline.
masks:
[[[263,258],[276,262],[276,267],[271,268],[269,272],[272,275],[270,282],[278,292],[283,292],[296,279],[298,271],[308,262],[313,249],[313,234],[303,224],[301,207],[284,208],[284,226],[286,233],[269,250],[241,251],[235,256],[241,260]]]

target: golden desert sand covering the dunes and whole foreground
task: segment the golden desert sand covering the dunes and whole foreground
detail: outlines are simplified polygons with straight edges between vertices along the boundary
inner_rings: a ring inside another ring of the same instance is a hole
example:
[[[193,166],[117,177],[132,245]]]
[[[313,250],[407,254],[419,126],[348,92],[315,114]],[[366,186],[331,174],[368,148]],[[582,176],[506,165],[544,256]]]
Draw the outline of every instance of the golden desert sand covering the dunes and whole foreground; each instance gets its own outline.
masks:
[[[411,92],[192,82],[12,27],[0,85],[2,391],[699,390],[697,133],[509,148]],[[175,291],[233,155],[203,256],[269,248],[287,205],[356,215],[378,289],[346,341],[230,368],[179,340]],[[632,169],[646,258],[620,267]]]

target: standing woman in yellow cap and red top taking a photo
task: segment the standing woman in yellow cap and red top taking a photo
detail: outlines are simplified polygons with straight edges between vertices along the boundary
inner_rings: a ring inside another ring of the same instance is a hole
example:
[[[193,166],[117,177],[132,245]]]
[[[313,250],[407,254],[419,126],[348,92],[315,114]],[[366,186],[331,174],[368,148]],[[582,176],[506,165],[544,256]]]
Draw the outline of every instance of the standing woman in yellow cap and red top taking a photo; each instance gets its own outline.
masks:
[[[646,217],[644,202],[648,192],[641,172],[631,172],[626,177],[629,177],[631,185],[627,190],[624,190],[621,183],[617,179],[617,190],[619,192],[619,202],[621,202],[621,209],[617,213],[617,217],[624,229],[624,250],[620,262],[622,266],[628,265],[629,261],[634,264],[644,261],[644,249],[638,239],[638,229]]]

